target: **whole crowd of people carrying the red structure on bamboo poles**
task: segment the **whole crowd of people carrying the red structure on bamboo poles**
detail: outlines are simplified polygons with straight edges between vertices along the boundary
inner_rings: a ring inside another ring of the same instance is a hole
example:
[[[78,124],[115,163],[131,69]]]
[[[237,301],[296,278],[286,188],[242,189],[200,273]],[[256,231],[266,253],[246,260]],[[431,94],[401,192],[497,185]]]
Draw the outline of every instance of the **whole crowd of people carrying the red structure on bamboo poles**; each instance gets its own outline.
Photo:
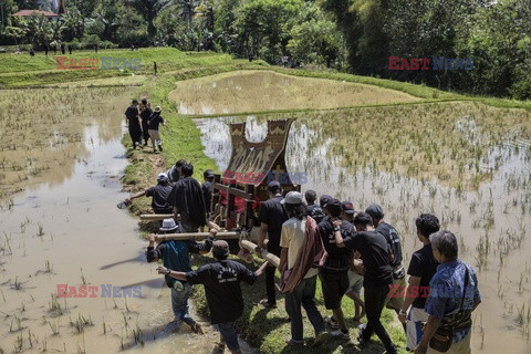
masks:
[[[176,218],[164,220],[162,233],[197,232],[206,226],[209,212],[206,200],[211,198],[214,173],[205,171],[202,186],[191,177],[192,173],[194,166],[179,160],[158,175],[157,186],[163,181],[164,187],[158,188],[159,197],[166,196],[166,206],[156,209],[153,205],[154,210],[173,209],[175,216],[180,216],[179,223],[175,222]],[[153,196],[155,202],[158,200],[155,190],[147,189],[143,195]],[[291,322],[291,336],[285,345],[305,344],[302,309],[315,332],[314,345],[330,337],[351,342],[351,329],[342,309],[343,298],[347,295],[354,301],[354,321],[360,324],[357,341],[362,347],[376,334],[385,346],[384,353],[397,353],[382,323],[382,312],[387,306],[396,311],[404,324],[408,351],[470,353],[471,312],[481,301],[478,280],[473,269],[459,260],[455,235],[440,230],[436,216],[421,214],[416,218],[415,237],[423,247],[413,253],[406,270],[402,239],[384,220],[379,205],[369,205],[365,211],[357,212],[351,201],[342,202],[329,195],[321,196],[317,204],[313,190],[304,196],[290,191],[284,197],[278,181],[269,183],[268,192],[269,199],[260,204],[256,251],[261,254],[261,249],[267,248],[280,258],[278,267],[266,261],[253,272],[228,260],[229,244],[216,240],[215,229],[204,242],[171,240],[155,247],[157,236],[149,236],[147,261],[163,260],[157,270],[171,289],[177,322],[188,324],[196,333],[202,332],[189,316],[188,298],[192,284],[204,284],[210,320],[220,332],[219,347],[241,353],[235,326],[244,306],[239,283],[252,284],[264,272],[267,298],[260,304],[275,308],[275,272],[279,270],[279,288]],[[159,201],[156,206],[158,208]],[[215,261],[192,270],[189,253],[204,254],[210,250]],[[330,316],[323,316],[315,304],[317,277]],[[366,324],[361,324],[364,316]]]

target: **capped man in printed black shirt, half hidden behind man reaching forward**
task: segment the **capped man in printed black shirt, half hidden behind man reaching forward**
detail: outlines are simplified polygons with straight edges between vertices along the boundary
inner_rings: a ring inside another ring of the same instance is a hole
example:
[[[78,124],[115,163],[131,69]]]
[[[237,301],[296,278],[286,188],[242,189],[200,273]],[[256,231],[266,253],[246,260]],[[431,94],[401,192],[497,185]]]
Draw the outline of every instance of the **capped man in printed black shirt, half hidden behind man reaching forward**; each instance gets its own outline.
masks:
[[[391,266],[393,267],[393,287],[398,289],[406,288],[406,270],[402,264],[402,246],[400,237],[398,231],[384,221],[384,210],[377,204],[372,204],[365,210],[373,218],[374,228],[377,232],[385,236],[387,243],[391,246],[393,252],[393,261]],[[396,314],[399,315],[402,305],[404,304],[404,298],[394,295],[393,298],[387,298],[385,300],[385,305],[387,309],[395,310]],[[403,323],[404,332],[407,334],[406,324]]]

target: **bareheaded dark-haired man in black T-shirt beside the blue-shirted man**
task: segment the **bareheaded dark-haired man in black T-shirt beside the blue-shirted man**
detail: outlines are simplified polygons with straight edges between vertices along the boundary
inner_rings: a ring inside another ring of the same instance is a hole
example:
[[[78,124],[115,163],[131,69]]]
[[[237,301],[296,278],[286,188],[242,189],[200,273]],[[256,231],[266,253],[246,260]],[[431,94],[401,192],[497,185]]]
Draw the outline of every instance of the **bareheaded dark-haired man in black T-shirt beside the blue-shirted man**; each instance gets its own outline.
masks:
[[[424,311],[426,300],[429,293],[429,282],[437,272],[439,263],[434,257],[429,236],[439,231],[439,219],[431,214],[421,214],[416,220],[417,237],[424,247],[414,252],[409,261],[407,274],[409,275],[409,285],[406,291],[406,300],[402,304],[398,320],[406,323],[407,347],[412,351],[418,345],[423,337],[423,322],[428,321],[428,314]],[[396,289],[396,292],[402,289]],[[407,309],[412,306],[407,316]]]

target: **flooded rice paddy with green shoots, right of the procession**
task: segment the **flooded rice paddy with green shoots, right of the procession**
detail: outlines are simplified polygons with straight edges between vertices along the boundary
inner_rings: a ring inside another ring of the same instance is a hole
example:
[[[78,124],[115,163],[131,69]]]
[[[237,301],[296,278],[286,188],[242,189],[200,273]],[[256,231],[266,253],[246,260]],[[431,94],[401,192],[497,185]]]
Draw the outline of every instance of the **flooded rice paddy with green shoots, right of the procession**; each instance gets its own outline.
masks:
[[[378,202],[400,232],[405,263],[421,244],[415,218],[438,216],[478,272],[472,353],[531,352],[531,113],[476,103],[196,119],[220,170],[229,163],[227,124],[247,121],[248,139],[267,119],[295,118],[287,146],[302,190]]]

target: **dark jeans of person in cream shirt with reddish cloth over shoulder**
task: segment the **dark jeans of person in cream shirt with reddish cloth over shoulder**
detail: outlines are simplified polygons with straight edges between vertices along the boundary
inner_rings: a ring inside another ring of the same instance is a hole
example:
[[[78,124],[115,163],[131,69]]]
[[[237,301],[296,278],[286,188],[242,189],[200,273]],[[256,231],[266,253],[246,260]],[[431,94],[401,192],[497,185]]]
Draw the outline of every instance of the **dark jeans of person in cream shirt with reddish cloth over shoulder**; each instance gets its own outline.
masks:
[[[285,311],[291,317],[291,339],[302,341],[302,311],[301,304],[306,311],[308,320],[313,325],[315,334],[324,332],[323,316],[315,306],[315,283],[317,275],[303,279],[292,293],[285,295]]]

